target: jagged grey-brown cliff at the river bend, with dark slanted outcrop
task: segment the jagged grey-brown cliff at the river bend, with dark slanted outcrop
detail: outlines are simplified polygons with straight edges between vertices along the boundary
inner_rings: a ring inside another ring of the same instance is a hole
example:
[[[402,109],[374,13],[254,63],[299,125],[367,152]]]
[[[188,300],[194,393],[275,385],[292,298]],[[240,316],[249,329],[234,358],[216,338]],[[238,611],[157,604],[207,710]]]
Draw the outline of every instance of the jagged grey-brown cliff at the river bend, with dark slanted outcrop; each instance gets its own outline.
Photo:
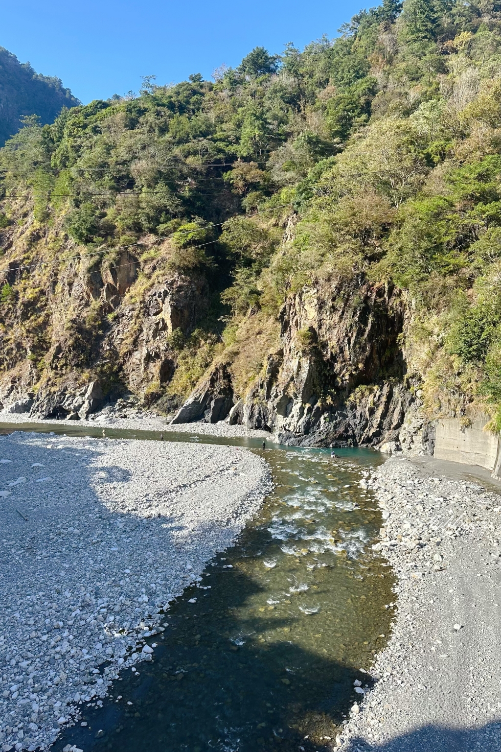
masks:
[[[225,378],[218,365],[178,422],[221,420],[226,411],[230,423],[267,429],[282,444],[433,451],[433,426],[400,347],[406,305],[394,288],[363,275],[330,280],[290,296],[279,318],[280,347],[246,395],[234,396],[231,364]]]

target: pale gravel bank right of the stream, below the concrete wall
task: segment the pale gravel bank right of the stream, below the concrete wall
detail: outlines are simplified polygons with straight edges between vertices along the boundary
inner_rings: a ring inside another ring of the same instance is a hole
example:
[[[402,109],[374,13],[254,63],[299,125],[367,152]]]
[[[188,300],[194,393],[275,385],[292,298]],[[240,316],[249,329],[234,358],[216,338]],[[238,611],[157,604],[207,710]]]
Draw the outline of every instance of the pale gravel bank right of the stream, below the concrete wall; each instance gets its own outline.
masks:
[[[372,690],[361,673],[343,750],[501,749],[501,496],[436,467],[389,459],[369,481],[385,518],[373,547],[398,577],[395,622]]]

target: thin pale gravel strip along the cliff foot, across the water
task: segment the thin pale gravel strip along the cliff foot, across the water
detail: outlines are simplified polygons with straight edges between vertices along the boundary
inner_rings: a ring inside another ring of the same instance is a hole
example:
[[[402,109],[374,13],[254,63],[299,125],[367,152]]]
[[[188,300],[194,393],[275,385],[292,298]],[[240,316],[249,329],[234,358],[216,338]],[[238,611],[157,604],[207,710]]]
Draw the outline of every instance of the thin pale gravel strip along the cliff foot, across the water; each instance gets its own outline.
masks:
[[[171,426],[167,418],[153,415],[151,413],[138,413],[131,415],[127,418],[113,417],[113,415],[107,415],[98,413],[91,420],[42,420],[41,418],[29,417],[27,413],[5,413],[0,412],[0,423],[42,423],[46,425],[58,426],[88,426],[90,428],[114,428],[124,429],[131,431],[160,431],[160,432],[180,432],[180,433],[198,433],[201,435],[209,436],[222,436],[226,438],[240,438],[240,437],[253,437],[264,438],[268,441],[273,441],[273,436],[267,431],[258,431],[255,429],[249,429],[245,426],[228,426],[224,420],[220,420],[219,423],[176,423]]]

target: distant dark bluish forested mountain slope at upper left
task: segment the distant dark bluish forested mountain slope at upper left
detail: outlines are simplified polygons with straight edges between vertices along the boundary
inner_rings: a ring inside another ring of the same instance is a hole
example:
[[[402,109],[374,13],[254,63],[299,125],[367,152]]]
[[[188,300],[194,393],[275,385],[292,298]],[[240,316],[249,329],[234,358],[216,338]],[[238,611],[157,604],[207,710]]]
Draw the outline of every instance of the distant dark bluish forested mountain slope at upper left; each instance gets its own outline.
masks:
[[[80,105],[70,89],[55,76],[35,73],[29,62],[19,62],[0,47],[0,146],[23,126],[23,119],[38,115],[42,125],[52,123],[63,107]]]

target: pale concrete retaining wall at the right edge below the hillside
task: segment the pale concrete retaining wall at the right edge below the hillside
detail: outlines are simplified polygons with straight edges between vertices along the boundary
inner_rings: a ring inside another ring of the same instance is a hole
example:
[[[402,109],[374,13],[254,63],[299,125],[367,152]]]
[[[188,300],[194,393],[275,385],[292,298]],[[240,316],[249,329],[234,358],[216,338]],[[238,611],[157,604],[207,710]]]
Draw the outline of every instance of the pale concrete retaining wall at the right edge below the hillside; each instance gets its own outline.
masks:
[[[487,415],[477,417],[468,428],[461,428],[457,418],[439,420],[433,456],[465,465],[480,465],[492,471],[496,465],[499,437],[484,431],[488,420]]]

